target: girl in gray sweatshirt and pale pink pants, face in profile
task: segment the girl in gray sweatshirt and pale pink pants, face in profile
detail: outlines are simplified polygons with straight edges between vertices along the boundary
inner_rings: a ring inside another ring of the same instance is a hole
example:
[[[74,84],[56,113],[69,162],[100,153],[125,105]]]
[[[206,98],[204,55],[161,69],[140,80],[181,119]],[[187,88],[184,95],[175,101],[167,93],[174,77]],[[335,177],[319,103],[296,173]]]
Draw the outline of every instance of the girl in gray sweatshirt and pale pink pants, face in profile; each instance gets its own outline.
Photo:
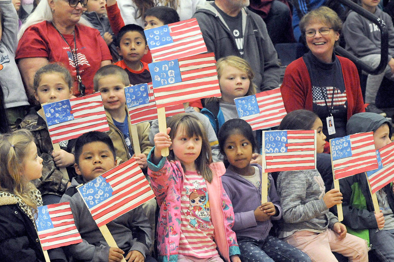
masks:
[[[316,151],[323,153],[325,135],[322,120],[311,111],[295,110],[288,113],[279,125],[280,130],[315,129]],[[346,234],[346,227],[329,211],[342,203],[337,189],[325,193],[322,177],[317,169],[283,171],[277,178],[277,190],[282,204],[280,238],[307,253],[312,261],[322,258],[336,261],[332,252],[350,261],[368,261],[364,240]]]

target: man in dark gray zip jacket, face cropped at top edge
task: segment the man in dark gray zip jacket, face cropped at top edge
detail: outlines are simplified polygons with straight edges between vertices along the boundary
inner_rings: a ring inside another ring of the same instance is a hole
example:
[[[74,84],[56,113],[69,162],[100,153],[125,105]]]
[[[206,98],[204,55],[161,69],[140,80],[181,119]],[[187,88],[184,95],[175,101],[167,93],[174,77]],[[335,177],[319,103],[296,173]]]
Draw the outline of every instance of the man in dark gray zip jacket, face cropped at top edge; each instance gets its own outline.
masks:
[[[207,1],[197,6],[197,18],[208,52],[216,59],[242,57],[252,66],[260,91],[279,86],[278,56],[261,17],[245,8],[249,0]]]

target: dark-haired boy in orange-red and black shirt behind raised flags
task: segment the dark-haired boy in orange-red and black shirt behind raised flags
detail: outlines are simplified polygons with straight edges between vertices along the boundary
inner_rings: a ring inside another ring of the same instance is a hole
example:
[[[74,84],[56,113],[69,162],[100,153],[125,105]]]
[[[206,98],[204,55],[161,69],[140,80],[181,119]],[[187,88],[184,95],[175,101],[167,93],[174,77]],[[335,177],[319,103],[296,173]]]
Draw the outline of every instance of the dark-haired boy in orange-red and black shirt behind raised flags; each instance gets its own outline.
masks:
[[[148,52],[143,28],[136,24],[123,26],[116,36],[116,41],[116,48],[123,60],[115,65],[127,72],[130,84],[138,85],[151,82],[152,77],[148,64],[141,61],[141,58]]]

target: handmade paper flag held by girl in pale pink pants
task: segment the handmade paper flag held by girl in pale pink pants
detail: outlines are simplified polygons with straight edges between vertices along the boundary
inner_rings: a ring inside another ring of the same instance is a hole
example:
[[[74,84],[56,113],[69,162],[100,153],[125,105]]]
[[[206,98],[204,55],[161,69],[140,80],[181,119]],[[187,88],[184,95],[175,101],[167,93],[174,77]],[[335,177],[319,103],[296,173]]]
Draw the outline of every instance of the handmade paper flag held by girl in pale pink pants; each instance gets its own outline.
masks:
[[[330,139],[330,148],[335,179],[378,168],[373,132]]]

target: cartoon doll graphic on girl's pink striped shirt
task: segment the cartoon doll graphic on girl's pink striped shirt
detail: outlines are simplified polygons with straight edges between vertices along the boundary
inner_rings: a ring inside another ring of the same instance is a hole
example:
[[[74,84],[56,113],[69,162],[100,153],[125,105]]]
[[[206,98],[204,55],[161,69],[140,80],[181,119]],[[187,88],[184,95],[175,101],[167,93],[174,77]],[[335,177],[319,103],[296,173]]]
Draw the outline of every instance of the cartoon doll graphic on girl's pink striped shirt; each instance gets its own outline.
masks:
[[[189,201],[189,210],[191,210],[194,216],[201,222],[210,222],[208,192],[195,188],[189,195]]]

